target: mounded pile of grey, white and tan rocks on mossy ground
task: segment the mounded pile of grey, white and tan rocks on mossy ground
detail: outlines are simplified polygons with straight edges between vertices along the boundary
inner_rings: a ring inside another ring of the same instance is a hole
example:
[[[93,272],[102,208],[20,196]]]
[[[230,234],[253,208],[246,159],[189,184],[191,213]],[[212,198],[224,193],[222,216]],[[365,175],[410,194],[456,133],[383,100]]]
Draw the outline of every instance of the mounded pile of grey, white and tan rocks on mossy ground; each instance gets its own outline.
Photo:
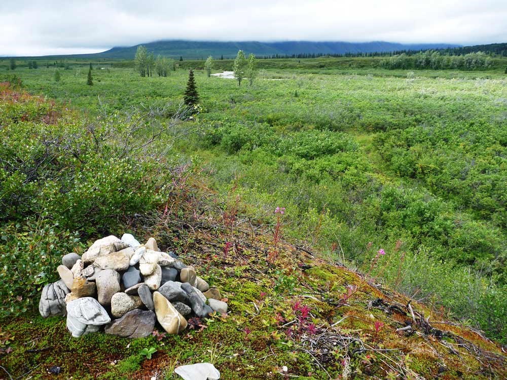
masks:
[[[98,331],[128,338],[148,336],[158,321],[169,334],[192,316],[227,313],[219,289],[209,285],[154,238],[140,244],[132,235],[95,241],[80,257],[69,253],[57,268],[61,280],[46,285],[43,317],[67,316],[73,336]]]

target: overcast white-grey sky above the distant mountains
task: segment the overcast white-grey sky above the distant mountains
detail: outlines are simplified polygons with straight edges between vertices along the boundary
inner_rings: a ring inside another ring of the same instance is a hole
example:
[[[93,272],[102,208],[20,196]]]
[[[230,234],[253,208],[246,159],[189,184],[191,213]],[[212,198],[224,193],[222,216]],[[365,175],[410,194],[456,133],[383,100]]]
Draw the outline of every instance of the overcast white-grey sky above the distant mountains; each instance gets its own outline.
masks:
[[[0,0],[0,56],[171,39],[507,42],[507,0]]]

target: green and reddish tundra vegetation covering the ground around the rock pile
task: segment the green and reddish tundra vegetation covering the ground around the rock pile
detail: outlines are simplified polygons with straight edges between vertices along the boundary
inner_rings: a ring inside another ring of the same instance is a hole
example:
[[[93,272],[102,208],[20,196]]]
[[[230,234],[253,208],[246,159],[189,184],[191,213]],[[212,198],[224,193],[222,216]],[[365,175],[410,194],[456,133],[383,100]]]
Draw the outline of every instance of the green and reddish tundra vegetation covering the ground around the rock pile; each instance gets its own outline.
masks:
[[[0,71],[7,370],[76,352],[95,355],[64,368],[80,378],[87,365],[99,378],[142,378],[196,358],[224,378],[505,375],[481,336],[507,343],[505,60],[259,59],[256,81],[244,54],[215,60],[214,70],[241,68],[236,80],[251,85],[238,86],[208,77],[204,60],[152,77],[140,53],[97,63],[93,86],[88,61],[58,71],[59,61],[33,70],[18,59]],[[188,68],[192,119],[179,108]],[[42,286],[63,254],[123,231],[208,268],[229,316],[196,321],[204,333],[185,339],[125,348],[91,334],[53,347],[64,323],[30,314]]]

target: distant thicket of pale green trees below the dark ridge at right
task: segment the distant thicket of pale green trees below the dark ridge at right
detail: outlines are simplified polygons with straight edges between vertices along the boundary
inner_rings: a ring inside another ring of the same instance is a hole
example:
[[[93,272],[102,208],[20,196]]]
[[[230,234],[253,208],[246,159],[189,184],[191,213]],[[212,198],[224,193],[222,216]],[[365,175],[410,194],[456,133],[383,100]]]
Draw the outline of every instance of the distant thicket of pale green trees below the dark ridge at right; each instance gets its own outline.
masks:
[[[380,61],[379,66],[387,69],[433,69],[433,70],[478,70],[488,69],[492,65],[489,55],[483,52],[464,55],[445,55],[439,51],[428,50],[424,53],[408,56],[394,55]]]

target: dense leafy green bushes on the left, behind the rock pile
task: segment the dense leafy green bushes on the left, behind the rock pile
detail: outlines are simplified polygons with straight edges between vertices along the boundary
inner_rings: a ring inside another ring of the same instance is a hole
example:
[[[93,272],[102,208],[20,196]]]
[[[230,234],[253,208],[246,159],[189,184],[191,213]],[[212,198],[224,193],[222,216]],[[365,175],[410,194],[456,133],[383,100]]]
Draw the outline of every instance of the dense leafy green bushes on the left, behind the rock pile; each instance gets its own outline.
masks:
[[[154,126],[133,128],[133,116],[88,122],[0,92],[0,316],[24,312],[79,237],[114,232],[168,199],[170,167],[134,149]]]

